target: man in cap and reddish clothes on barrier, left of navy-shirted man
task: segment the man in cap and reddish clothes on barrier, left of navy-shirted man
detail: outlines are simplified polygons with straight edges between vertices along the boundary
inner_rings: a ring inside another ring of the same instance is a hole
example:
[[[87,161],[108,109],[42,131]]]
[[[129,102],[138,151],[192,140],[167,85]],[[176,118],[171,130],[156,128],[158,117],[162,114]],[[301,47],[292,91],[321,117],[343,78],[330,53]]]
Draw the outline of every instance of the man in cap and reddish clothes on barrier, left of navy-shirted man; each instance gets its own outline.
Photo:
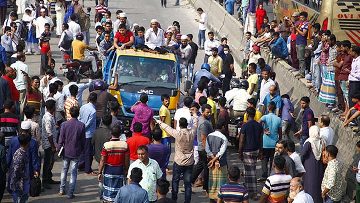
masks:
[[[295,12],[294,14],[292,14],[291,17],[293,17],[294,21],[291,21],[290,19],[285,19],[285,26],[288,28],[291,28],[291,26],[294,24],[295,26],[299,26],[300,25],[300,20],[299,20],[299,12]],[[296,70],[299,69],[299,60],[298,60],[298,56],[296,53],[296,30],[292,29],[291,31],[291,48],[290,48],[290,56],[291,56],[291,61],[292,61],[292,67]]]

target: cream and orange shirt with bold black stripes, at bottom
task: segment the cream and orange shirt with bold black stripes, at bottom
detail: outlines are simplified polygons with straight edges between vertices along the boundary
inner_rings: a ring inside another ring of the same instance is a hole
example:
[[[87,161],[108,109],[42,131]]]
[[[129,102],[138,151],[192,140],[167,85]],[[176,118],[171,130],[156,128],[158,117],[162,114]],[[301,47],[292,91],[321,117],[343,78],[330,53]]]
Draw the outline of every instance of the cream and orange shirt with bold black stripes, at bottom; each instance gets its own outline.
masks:
[[[285,173],[275,173],[269,176],[261,191],[264,195],[268,196],[268,203],[284,203],[285,195],[290,187],[291,175]]]

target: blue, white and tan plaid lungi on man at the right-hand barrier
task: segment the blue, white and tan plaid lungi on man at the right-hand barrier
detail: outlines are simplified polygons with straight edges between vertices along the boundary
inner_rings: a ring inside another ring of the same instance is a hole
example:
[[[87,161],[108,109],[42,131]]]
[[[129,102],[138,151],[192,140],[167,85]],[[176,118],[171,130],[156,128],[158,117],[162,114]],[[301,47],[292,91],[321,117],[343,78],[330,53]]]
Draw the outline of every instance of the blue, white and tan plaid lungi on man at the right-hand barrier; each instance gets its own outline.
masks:
[[[325,72],[325,76],[322,79],[318,101],[322,103],[335,104],[335,99],[335,73]]]

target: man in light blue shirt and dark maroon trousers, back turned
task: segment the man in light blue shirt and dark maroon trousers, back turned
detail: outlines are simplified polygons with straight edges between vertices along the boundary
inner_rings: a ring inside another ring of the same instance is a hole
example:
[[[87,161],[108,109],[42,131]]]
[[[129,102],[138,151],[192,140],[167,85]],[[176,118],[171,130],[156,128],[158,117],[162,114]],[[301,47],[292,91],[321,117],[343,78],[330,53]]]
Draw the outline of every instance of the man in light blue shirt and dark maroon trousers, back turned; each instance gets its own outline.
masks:
[[[85,171],[85,175],[94,176],[97,175],[91,169],[93,155],[91,139],[96,129],[96,107],[97,94],[91,93],[89,95],[89,103],[81,106],[79,121],[85,124],[85,145],[84,151],[80,155],[79,170]],[[101,172],[101,171],[99,171]]]

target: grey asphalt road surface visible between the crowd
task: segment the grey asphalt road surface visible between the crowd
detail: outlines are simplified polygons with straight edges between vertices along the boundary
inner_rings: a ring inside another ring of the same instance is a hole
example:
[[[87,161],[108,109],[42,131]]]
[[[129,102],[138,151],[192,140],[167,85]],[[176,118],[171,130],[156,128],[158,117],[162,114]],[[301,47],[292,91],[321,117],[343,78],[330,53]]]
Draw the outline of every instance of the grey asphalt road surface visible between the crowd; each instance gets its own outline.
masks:
[[[186,1],[181,0],[180,6],[173,6],[174,0],[168,0],[167,8],[162,8],[160,4],[160,0],[109,0],[109,10],[113,13],[112,19],[115,20],[115,13],[116,10],[121,9],[124,12],[127,13],[128,19],[132,23],[138,23],[140,26],[144,26],[145,28],[149,28],[150,20],[153,18],[158,19],[158,21],[161,23],[163,28],[166,28],[167,26],[171,25],[173,20],[177,20],[180,22],[181,25],[181,33],[182,34],[189,34],[192,33],[194,35],[194,42],[197,42],[197,33],[198,33],[198,26],[197,23],[194,21],[195,18],[199,18],[197,12],[193,9],[193,7]],[[94,19],[94,6],[95,1],[88,1],[85,0],[84,2],[85,8],[92,7],[92,13],[90,16],[90,19]],[[265,6],[265,8],[268,10],[268,15],[271,12],[271,5]],[[271,15],[270,14],[270,15]],[[270,17],[271,19],[271,17]],[[54,32],[52,34],[52,39],[50,41],[51,43],[51,50],[53,52],[53,58],[56,60],[56,71],[58,73],[58,76],[63,80],[65,84],[68,83],[66,79],[62,76],[62,72],[59,69],[61,67],[62,63],[62,57],[60,54],[60,51],[57,47],[59,39],[56,38],[56,34]],[[90,28],[90,46],[95,46],[94,44],[94,38],[96,36],[95,29],[94,29],[94,23],[91,22],[91,28]],[[218,36],[218,39],[220,39],[221,36]],[[231,42],[229,42],[231,43]],[[194,72],[196,70],[199,70],[202,62],[203,62],[203,56],[204,51],[199,50],[198,57],[196,60]],[[26,56],[26,62],[30,67],[30,74],[31,75],[39,75],[39,66],[40,66],[40,56]],[[239,69],[240,66],[235,64],[235,69]],[[85,82],[83,80],[82,82]],[[182,87],[181,87],[182,90]],[[86,103],[86,98],[88,97],[88,91],[84,91],[83,94],[83,102]],[[182,97],[181,97],[182,98]],[[182,99],[180,99],[182,100]],[[174,141],[173,141],[174,142]],[[172,169],[173,160],[174,160],[174,145],[172,149],[172,156],[171,161],[169,163],[170,169]],[[237,165],[240,167],[241,170],[243,170],[243,166],[240,160],[238,160],[238,153],[234,150],[234,148],[229,143],[227,148],[227,157],[228,157],[228,165]],[[260,163],[257,164],[257,174],[258,177],[261,174],[260,169]],[[92,168],[97,171],[97,163],[96,161],[93,161]],[[62,168],[62,161],[60,159],[56,160],[54,168],[53,168],[53,179],[59,180],[60,179],[60,172]],[[68,180],[69,180],[68,175]],[[167,179],[171,181],[171,175],[167,175]],[[243,182],[243,178],[239,180],[240,182]],[[182,181],[180,181],[180,187],[182,186]],[[57,192],[59,190],[58,185],[52,185],[51,190],[46,190],[42,192],[42,195],[39,197],[30,197],[29,202],[34,203],[95,203],[99,202],[98,195],[97,195],[97,177],[95,176],[85,176],[84,172],[79,172],[77,176],[77,183],[76,188],[74,191],[74,195],[76,196],[72,200],[67,200],[66,195],[65,196],[58,196]],[[261,188],[263,186],[263,183],[258,183],[258,192],[261,192]],[[171,190],[171,189],[170,189]],[[179,190],[181,191],[181,189]],[[193,203],[206,203],[209,202],[208,197],[205,196],[204,191],[201,190],[201,188],[193,188],[193,191],[195,192],[192,195],[192,201]],[[168,194],[168,197],[170,197],[170,194]],[[180,192],[178,196],[178,202],[184,201],[184,193]],[[12,201],[12,197],[5,193],[4,198],[2,200],[3,203],[10,203]],[[258,201],[252,201],[251,203],[256,203]]]

